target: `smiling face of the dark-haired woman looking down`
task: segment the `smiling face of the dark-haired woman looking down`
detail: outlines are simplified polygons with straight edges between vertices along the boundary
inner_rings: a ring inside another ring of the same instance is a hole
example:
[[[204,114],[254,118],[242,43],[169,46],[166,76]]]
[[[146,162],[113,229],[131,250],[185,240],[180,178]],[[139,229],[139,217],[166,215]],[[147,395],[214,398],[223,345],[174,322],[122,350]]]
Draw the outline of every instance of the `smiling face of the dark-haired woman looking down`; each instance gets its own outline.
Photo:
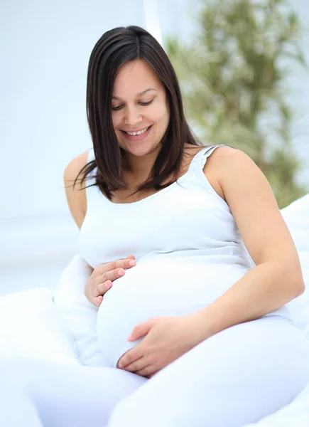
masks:
[[[166,91],[151,67],[140,59],[122,65],[112,97],[112,122],[120,147],[138,157],[155,152],[161,148],[169,120]]]

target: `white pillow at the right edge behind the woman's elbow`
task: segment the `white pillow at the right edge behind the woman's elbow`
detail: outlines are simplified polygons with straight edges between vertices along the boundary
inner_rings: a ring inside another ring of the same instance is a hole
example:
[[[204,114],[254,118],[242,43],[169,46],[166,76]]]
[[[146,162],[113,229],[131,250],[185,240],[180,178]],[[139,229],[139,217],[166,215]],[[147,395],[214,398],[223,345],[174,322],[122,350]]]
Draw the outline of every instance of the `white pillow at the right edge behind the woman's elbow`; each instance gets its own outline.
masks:
[[[296,245],[305,280],[305,292],[288,303],[293,320],[309,339],[309,194],[281,209]]]

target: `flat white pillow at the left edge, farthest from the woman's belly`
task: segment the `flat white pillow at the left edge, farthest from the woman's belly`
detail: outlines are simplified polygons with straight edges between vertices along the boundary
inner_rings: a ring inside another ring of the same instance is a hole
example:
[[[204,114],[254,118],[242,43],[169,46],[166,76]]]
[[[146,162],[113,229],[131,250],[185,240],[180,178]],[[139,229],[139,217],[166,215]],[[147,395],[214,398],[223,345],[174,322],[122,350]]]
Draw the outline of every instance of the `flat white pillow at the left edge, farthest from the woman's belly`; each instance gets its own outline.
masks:
[[[49,289],[0,297],[0,359],[34,357],[79,364],[75,342]]]

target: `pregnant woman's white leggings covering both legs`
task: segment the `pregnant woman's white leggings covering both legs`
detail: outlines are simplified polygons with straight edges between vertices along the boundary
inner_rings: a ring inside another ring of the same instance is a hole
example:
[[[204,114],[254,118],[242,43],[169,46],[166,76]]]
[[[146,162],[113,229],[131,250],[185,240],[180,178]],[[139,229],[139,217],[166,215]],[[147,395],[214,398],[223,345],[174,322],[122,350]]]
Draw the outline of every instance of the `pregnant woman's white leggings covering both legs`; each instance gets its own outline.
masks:
[[[309,383],[309,342],[274,315],[219,332],[152,379],[6,359],[0,381],[5,427],[241,427]]]

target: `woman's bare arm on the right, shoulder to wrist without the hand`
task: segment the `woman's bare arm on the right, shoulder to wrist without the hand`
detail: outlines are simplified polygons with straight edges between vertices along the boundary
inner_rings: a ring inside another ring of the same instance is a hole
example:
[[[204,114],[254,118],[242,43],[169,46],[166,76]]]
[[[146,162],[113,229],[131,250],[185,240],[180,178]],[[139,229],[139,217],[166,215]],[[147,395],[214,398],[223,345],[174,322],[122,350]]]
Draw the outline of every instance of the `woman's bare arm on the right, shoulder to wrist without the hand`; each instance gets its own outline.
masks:
[[[195,313],[205,322],[204,339],[266,315],[305,290],[296,247],[264,174],[237,149],[219,147],[211,157],[222,171],[219,184],[256,267]]]

